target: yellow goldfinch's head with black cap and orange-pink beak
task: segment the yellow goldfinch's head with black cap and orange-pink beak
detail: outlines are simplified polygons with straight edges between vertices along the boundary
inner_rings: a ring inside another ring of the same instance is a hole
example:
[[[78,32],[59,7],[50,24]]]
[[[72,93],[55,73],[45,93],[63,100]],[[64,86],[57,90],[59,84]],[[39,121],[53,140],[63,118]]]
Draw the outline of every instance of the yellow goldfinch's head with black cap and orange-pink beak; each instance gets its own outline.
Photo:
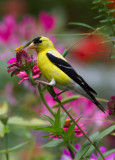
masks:
[[[48,48],[54,48],[54,45],[47,37],[34,38],[32,43],[29,45],[29,49],[35,49],[37,52],[44,51]]]

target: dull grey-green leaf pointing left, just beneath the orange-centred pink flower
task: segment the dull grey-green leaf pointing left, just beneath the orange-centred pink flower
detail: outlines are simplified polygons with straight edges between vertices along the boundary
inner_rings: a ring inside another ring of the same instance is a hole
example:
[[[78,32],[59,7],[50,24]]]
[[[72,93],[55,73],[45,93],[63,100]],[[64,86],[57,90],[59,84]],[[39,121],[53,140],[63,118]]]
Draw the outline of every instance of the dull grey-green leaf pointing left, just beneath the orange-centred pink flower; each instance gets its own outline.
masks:
[[[40,146],[40,148],[43,148],[43,147],[57,147],[62,142],[63,142],[63,139],[55,139],[55,140],[52,140],[52,141]]]

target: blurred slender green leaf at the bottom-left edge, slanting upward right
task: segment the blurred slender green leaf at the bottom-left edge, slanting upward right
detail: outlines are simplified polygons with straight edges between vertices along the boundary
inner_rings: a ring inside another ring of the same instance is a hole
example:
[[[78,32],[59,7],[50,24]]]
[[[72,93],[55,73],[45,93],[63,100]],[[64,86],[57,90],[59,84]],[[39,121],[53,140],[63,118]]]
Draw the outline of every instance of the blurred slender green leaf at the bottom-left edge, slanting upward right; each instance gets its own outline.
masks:
[[[30,141],[27,141],[27,142],[24,142],[24,143],[21,143],[21,144],[18,144],[12,148],[8,148],[7,150],[3,149],[3,150],[0,150],[0,153],[8,153],[8,152],[12,152],[12,151],[15,151],[19,148],[22,148],[23,146],[27,145],[28,143],[30,143]]]

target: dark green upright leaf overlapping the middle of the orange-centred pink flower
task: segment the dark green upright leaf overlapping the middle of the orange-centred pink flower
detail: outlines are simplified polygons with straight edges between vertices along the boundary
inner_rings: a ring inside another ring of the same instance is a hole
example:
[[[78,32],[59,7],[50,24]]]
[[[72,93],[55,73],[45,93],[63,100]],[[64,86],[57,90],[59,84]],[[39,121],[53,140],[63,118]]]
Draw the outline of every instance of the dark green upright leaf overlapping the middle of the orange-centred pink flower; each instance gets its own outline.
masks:
[[[64,134],[64,140],[65,140],[66,142],[69,141],[69,140],[73,137],[73,135],[75,135],[74,128],[75,128],[75,124],[72,124],[72,125],[68,128],[67,132],[65,132],[65,134]]]

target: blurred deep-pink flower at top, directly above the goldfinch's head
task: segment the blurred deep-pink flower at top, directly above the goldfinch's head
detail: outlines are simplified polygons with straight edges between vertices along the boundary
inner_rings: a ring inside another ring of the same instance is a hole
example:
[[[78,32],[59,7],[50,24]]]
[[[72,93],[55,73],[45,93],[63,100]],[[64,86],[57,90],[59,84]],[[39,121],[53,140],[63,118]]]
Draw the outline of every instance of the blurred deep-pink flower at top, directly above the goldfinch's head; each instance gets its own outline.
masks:
[[[40,24],[43,26],[45,31],[51,31],[56,26],[56,16],[50,15],[49,13],[42,11],[39,15]]]

